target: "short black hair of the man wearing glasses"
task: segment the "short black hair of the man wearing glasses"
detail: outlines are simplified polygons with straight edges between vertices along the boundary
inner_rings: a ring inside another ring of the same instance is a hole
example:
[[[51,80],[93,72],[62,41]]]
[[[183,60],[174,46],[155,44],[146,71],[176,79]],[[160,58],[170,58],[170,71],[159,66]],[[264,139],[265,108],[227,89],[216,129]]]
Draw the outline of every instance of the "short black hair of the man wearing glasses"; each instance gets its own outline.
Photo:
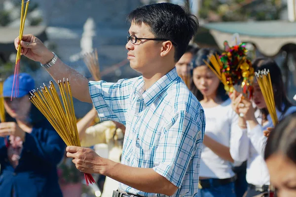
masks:
[[[154,3],[133,10],[127,17],[130,23],[150,27],[157,38],[168,39],[177,46],[175,61],[185,53],[188,43],[198,29],[198,19],[188,10],[173,3]]]

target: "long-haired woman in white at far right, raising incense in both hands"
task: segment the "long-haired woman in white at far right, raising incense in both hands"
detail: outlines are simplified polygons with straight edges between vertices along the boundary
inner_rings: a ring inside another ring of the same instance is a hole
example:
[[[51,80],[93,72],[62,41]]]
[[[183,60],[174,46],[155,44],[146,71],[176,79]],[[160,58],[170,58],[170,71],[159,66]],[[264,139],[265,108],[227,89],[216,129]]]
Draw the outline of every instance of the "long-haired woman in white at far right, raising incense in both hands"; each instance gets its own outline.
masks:
[[[296,107],[289,101],[285,92],[281,70],[277,63],[268,58],[259,58],[254,61],[253,67],[256,71],[269,70],[272,84],[270,91],[274,93],[278,119],[281,120],[284,116],[296,112]],[[253,197],[267,192],[270,185],[269,173],[263,160],[267,140],[263,131],[268,127],[274,127],[274,125],[258,82],[254,82],[253,102],[247,98],[242,99],[242,95],[236,96],[237,93],[232,94],[233,108],[236,113],[243,114],[243,117],[239,117],[239,119],[244,121],[243,124],[247,126],[250,141],[249,147],[245,148],[249,154],[246,175],[249,187],[246,197]]]

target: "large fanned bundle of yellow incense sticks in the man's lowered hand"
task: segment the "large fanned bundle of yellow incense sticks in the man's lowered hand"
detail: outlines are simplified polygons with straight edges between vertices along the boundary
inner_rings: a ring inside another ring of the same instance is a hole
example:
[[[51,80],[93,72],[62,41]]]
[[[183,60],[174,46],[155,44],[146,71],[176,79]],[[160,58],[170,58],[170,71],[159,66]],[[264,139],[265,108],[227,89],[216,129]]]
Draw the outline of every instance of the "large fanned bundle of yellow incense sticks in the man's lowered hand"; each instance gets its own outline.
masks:
[[[58,85],[63,105],[52,81],[48,87],[43,84],[37,91],[32,90],[30,101],[47,118],[67,146],[80,146],[69,80],[65,81],[64,78],[63,82],[58,81]],[[84,178],[86,185],[95,183],[91,174],[84,173]]]

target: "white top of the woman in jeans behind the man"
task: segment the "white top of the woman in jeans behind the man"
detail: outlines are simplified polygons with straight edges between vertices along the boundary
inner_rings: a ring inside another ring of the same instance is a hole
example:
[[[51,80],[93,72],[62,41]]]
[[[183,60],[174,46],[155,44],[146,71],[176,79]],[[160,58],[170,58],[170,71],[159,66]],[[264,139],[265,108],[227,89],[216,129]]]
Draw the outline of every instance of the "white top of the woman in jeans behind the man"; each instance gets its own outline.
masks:
[[[231,108],[231,100],[221,105],[204,108],[206,116],[205,135],[229,147],[230,155],[236,163],[247,160],[248,153],[243,150],[248,146],[247,130],[238,126],[238,115]],[[203,144],[199,174],[201,177],[230,178],[234,176],[232,163],[216,155]]]

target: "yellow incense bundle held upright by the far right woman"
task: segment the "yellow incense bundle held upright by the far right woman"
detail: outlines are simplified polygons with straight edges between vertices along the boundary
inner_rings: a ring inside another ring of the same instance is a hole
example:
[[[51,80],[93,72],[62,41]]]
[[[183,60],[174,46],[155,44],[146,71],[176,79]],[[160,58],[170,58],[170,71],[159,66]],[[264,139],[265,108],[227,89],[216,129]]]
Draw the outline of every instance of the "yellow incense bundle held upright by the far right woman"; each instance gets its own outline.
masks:
[[[269,70],[266,71],[266,69],[264,69],[264,70],[258,71],[255,73],[255,75],[256,75],[256,79],[259,84],[259,87],[261,89],[261,92],[263,94],[268,113],[270,114],[270,117],[272,119],[272,123],[273,125],[276,125],[278,123],[278,117],[276,114],[276,107],[274,102],[273,89],[272,89]]]

